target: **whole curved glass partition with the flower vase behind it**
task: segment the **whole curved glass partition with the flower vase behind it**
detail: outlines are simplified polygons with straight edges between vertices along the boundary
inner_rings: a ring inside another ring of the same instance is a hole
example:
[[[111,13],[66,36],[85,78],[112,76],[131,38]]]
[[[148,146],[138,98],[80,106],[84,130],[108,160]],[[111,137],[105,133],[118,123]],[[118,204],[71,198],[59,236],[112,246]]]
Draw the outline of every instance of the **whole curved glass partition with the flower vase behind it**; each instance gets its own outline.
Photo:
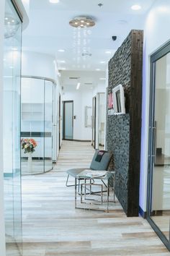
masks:
[[[52,80],[22,77],[22,175],[41,174],[53,168]]]

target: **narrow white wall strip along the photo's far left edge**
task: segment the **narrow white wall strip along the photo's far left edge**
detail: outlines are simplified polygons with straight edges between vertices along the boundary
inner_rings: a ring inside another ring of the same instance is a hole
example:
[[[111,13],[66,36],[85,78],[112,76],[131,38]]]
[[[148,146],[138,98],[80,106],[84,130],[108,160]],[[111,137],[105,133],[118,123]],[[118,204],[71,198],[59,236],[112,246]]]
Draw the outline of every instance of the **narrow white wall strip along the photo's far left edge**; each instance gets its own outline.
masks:
[[[4,0],[0,1],[0,124],[2,124],[3,114],[3,54],[4,54]],[[3,130],[0,125],[0,252],[1,256],[5,256],[5,229],[4,229],[4,174],[3,174],[3,161],[2,161],[2,149],[3,149]]]

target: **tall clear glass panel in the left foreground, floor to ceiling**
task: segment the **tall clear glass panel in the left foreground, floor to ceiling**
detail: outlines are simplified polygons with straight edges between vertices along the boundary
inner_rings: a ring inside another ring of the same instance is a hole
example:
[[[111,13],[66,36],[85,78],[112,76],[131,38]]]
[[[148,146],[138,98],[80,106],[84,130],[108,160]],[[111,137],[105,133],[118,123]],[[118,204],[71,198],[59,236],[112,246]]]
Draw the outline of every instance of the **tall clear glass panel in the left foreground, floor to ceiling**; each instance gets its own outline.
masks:
[[[7,22],[6,22],[7,21]],[[22,22],[6,0],[4,31],[4,202],[6,255],[20,255],[22,242],[20,172],[20,61]],[[13,248],[11,247],[13,245]],[[11,251],[12,249],[12,251]]]

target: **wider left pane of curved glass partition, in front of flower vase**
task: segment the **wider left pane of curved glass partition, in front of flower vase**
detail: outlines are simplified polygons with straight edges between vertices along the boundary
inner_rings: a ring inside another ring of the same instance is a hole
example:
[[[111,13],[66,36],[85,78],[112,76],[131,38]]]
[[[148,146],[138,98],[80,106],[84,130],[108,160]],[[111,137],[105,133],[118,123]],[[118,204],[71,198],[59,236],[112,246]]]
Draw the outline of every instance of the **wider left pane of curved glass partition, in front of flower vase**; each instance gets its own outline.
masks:
[[[44,171],[44,80],[22,77],[22,174]],[[34,152],[27,147],[35,140]]]

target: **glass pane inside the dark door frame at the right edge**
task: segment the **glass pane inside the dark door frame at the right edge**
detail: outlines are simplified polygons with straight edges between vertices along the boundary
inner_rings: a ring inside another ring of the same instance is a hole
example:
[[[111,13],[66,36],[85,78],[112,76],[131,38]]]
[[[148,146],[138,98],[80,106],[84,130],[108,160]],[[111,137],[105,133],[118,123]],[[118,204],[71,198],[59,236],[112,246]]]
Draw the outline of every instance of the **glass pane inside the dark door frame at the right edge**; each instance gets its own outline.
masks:
[[[170,54],[156,61],[155,127],[151,218],[169,239],[170,220]]]

